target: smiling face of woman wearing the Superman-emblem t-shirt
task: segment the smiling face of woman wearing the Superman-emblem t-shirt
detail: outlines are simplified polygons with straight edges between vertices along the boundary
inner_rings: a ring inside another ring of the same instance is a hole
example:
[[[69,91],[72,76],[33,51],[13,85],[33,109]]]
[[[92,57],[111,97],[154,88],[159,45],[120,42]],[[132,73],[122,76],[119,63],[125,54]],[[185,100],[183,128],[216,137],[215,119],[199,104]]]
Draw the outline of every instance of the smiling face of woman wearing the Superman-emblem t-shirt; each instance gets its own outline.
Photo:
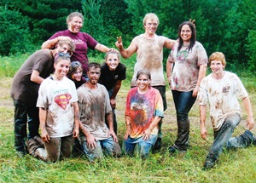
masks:
[[[55,77],[61,79],[67,75],[70,65],[70,60],[65,58],[58,58],[54,64]]]

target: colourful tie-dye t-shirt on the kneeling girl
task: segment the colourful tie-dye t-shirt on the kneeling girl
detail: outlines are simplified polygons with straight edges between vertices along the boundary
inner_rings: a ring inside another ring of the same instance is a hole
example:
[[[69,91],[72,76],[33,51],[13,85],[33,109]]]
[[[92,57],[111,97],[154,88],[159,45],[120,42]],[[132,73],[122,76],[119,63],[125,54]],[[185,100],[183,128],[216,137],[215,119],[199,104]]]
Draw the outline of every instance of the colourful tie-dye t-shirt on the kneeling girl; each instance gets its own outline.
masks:
[[[126,98],[125,116],[131,117],[131,138],[143,136],[154,117],[164,117],[163,100],[157,89],[150,88],[146,94],[139,94],[137,87],[130,89]],[[158,134],[158,125],[151,134]]]

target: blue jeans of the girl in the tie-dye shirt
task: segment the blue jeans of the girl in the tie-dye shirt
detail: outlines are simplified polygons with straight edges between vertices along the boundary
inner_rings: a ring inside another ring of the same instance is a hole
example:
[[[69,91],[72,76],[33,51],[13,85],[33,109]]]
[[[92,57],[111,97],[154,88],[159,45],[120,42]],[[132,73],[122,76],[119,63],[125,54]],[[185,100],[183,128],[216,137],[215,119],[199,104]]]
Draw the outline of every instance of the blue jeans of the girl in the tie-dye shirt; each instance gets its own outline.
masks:
[[[125,153],[132,155],[135,149],[135,146],[137,146],[138,154],[141,157],[147,157],[152,146],[154,146],[155,141],[157,140],[158,135],[149,135],[148,140],[143,140],[143,136],[139,138],[131,138],[128,137],[127,140],[124,141],[124,149]]]

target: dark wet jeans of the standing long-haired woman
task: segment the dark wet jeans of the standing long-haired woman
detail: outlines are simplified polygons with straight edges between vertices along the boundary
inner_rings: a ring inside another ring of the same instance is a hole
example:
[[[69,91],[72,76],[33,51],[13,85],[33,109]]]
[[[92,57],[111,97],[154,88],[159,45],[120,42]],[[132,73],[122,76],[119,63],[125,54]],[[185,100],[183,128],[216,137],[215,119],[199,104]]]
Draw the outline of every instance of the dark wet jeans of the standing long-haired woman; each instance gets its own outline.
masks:
[[[189,111],[196,100],[192,94],[193,90],[189,92],[172,90],[177,115],[177,140],[174,147],[180,151],[186,151],[189,145]]]

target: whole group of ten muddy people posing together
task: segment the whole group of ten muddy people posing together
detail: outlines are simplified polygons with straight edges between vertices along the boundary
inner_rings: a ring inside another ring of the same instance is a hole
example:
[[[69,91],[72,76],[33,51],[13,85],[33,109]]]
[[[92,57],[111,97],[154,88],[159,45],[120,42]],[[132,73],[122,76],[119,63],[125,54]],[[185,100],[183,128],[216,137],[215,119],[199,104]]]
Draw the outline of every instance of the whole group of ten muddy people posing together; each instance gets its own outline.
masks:
[[[75,148],[90,161],[104,154],[121,156],[114,109],[116,95],[126,78],[126,67],[120,63],[119,54],[129,58],[135,53],[137,62],[126,97],[123,149],[127,155],[137,150],[141,157],[160,150],[161,124],[167,108],[164,48],[172,49],[166,61],[166,75],[177,114],[177,140],[169,147],[170,154],[188,150],[189,111],[196,99],[200,106],[201,137],[207,136],[207,104],[214,129],[214,142],[204,163],[206,169],[215,165],[224,147],[256,145],[250,131],[254,120],[246,89],[235,74],[224,71],[226,62],[220,52],[209,57],[212,73],[206,77],[207,52],[196,41],[194,22],[184,21],[178,27],[177,40],[172,40],[158,36],[158,17],[146,14],[145,32],[133,38],[127,49],[122,37],[117,37],[118,51],[81,32],[83,21],[83,14],[69,14],[67,30],[56,32],[44,42],[42,49],[32,54],[15,74],[11,96],[15,105],[15,150],[19,157],[29,152],[33,157],[55,162],[70,157]],[[88,49],[106,53],[105,63],[89,63]],[[237,98],[245,105],[248,130],[231,137],[241,121]]]

